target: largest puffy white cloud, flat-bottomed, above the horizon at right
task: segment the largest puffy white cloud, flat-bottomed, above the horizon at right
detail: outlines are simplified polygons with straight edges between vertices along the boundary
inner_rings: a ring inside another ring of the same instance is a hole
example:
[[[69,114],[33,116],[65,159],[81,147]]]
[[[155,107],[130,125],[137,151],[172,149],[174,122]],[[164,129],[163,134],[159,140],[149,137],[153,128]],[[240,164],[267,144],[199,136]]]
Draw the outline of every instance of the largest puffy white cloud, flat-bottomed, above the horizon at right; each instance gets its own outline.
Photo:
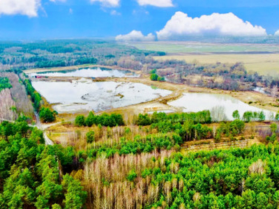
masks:
[[[206,34],[215,36],[266,36],[266,30],[262,26],[253,26],[250,22],[243,22],[233,13],[213,13],[212,15],[192,18],[185,13],[176,12],[165,27],[156,33],[160,40]]]

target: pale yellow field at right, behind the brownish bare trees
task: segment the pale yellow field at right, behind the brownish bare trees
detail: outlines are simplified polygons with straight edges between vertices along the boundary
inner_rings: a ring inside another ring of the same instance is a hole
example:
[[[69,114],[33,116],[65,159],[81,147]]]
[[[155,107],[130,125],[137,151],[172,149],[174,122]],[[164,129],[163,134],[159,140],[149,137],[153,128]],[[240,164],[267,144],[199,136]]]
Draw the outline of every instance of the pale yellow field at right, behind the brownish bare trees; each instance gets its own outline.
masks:
[[[188,63],[244,63],[248,71],[279,77],[279,54],[181,54],[154,56],[154,59],[179,59]]]

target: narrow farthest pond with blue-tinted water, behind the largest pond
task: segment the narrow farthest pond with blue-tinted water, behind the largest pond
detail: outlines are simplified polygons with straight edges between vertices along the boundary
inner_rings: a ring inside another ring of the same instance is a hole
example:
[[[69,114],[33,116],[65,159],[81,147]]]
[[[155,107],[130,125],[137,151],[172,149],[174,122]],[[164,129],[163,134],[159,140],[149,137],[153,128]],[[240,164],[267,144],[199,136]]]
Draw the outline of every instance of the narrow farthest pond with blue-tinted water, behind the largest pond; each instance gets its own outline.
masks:
[[[80,70],[62,70],[34,72],[30,77],[50,76],[50,77],[140,77],[135,72],[128,70],[112,70],[107,68],[82,68]]]

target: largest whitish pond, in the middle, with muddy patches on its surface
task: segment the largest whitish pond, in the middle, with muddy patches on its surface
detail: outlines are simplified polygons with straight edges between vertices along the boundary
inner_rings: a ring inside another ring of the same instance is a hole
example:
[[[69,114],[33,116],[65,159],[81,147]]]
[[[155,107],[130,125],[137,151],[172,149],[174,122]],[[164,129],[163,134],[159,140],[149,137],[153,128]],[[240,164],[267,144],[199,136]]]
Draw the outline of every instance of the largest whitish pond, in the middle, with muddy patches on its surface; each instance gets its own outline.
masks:
[[[148,102],[172,91],[132,82],[32,82],[33,87],[59,113],[81,110],[103,111]]]

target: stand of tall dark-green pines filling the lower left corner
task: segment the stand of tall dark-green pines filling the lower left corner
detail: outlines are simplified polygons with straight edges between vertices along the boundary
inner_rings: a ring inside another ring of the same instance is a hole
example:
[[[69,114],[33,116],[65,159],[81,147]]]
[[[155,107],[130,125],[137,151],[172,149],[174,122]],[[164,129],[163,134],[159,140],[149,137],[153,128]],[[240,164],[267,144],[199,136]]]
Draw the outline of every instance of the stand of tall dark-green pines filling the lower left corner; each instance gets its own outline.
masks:
[[[66,174],[74,156],[73,148],[46,147],[43,132],[21,118],[1,123],[0,208],[81,208],[86,192]]]

